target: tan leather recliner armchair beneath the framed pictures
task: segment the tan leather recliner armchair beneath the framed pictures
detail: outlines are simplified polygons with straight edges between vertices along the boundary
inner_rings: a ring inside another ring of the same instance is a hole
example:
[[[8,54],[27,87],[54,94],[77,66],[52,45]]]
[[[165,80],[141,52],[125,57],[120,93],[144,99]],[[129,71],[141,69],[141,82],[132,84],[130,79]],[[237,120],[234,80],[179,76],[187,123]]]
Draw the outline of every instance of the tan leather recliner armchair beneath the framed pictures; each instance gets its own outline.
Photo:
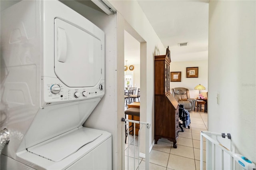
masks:
[[[189,90],[183,87],[171,89],[171,94],[178,101],[179,104],[184,105],[184,109],[194,111],[196,99],[190,98]]]

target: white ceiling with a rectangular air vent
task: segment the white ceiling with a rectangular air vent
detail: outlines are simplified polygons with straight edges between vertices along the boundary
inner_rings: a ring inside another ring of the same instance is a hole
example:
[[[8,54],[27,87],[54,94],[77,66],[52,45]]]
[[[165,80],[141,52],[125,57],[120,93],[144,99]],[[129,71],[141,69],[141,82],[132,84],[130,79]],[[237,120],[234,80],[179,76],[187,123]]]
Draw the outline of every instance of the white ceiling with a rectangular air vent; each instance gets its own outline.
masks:
[[[172,61],[208,59],[208,0],[137,0]],[[125,33],[125,60],[139,64],[139,43]],[[188,42],[180,47],[178,43]]]

